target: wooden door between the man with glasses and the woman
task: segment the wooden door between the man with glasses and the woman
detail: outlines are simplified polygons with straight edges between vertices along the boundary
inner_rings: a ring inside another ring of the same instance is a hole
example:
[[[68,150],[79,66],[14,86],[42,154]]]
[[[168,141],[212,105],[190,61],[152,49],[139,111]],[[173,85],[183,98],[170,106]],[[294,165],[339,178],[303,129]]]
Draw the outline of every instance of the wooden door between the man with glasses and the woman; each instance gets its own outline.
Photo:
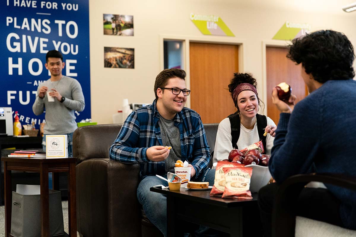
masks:
[[[229,87],[238,72],[238,45],[189,43],[190,107],[203,123],[220,123],[236,111]]]

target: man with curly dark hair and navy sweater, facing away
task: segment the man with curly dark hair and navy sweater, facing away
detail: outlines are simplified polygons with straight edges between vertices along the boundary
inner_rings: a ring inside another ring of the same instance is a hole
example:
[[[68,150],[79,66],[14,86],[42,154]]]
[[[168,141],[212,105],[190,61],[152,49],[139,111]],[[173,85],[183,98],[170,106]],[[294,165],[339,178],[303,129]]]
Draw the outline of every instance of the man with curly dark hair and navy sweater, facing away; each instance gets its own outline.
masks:
[[[289,59],[302,64],[302,77],[310,95],[294,105],[272,92],[280,114],[269,170],[276,180],[258,195],[265,236],[271,236],[271,213],[279,184],[295,174],[356,174],[356,81],[354,47],[345,34],[317,31],[294,39]],[[295,203],[298,216],[356,230],[356,192],[325,184],[304,188]]]

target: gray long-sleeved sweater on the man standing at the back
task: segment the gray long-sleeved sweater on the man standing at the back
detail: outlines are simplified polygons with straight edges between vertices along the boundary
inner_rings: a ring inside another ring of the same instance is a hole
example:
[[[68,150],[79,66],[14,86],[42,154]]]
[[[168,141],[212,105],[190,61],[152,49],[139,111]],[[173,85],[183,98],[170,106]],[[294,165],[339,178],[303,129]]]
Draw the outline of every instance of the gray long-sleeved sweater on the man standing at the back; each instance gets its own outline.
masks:
[[[47,86],[48,91],[51,91],[52,88],[56,89],[61,96],[66,97],[66,100],[61,103],[57,98],[54,98],[54,102],[49,102],[47,93],[41,99],[38,97],[38,91],[42,86]],[[38,85],[32,111],[36,115],[40,115],[46,109],[46,125],[43,131],[45,134],[56,135],[73,133],[78,128],[74,111],[83,111],[84,107],[84,95],[79,82],[72,77],[62,76],[59,81],[51,82],[51,79],[48,79]]]

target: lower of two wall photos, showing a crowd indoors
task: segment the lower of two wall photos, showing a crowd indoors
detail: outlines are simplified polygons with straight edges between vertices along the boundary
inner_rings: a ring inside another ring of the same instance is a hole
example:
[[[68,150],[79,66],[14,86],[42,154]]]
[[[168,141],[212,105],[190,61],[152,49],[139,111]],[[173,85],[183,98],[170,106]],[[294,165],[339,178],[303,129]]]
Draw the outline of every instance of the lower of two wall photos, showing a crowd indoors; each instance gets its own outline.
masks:
[[[104,47],[104,68],[135,68],[135,49]]]

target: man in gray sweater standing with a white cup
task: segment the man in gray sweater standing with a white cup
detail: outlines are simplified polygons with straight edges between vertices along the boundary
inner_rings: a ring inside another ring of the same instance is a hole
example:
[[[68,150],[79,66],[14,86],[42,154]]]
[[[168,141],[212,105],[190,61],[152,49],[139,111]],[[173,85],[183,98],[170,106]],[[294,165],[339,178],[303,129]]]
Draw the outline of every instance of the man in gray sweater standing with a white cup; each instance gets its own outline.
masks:
[[[68,157],[72,157],[73,132],[78,127],[74,111],[83,111],[85,102],[79,82],[74,78],[62,75],[64,65],[60,52],[57,50],[48,51],[45,67],[51,72],[51,78],[38,85],[32,111],[36,115],[40,115],[46,109],[43,150],[46,150],[46,135],[67,134]]]

